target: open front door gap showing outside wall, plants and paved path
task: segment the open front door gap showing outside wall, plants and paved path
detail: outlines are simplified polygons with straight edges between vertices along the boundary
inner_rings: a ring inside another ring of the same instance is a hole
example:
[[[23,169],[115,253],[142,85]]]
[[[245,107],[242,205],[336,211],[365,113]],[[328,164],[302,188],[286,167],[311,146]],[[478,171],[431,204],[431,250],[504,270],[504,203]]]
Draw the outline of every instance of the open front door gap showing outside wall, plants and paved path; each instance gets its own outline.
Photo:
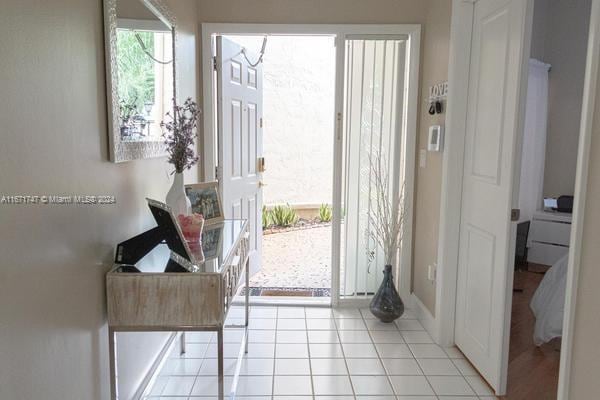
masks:
[[[262,251],[251,296],[330,297],[333,36],[225,35],[262,56]],[[249,57],[250,58],[250,57]],[[249,60],[254,63],[258,58]]]

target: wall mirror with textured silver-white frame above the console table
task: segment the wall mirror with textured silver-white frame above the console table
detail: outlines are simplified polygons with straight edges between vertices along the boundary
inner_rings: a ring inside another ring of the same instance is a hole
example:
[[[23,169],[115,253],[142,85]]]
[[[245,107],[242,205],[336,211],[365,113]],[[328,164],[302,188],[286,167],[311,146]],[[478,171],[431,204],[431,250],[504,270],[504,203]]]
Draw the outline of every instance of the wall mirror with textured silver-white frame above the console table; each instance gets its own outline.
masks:
[[[176,20],[161,0],[104,0],[110,160],[166,155],[176,99]]]

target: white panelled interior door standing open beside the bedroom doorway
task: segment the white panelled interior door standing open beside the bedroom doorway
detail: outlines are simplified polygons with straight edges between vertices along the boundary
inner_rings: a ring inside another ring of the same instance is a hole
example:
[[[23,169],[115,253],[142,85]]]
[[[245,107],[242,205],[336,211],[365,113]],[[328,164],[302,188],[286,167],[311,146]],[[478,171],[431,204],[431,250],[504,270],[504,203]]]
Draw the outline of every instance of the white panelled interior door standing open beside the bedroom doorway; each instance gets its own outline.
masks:
[[[455,340],[498,395],[505,393],[508,366],[511,208],[529,1],[473,4]]]

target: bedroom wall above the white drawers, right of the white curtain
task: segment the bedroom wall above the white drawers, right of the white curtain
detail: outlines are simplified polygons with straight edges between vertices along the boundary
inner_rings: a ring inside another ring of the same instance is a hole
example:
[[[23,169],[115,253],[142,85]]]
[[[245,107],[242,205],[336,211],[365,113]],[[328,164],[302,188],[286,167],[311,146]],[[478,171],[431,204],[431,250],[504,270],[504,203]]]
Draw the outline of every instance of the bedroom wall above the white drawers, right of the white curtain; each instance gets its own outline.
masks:
[[[573,194],[591,0],[536,0],[531,56],[552,65],[544,196]]]

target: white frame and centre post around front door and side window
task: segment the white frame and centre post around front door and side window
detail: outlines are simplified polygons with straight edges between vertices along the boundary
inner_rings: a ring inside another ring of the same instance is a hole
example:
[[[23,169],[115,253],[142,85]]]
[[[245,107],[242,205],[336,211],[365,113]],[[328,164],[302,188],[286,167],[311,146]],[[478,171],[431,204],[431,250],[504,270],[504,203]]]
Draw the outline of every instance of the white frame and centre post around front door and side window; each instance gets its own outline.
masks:
[[[413,196],[415,185],[415,157],[417,141],[417,112],[419,99],[419,66],[420,66],[420,48],[421,48],[421,25],[419,24],[244,24],[244,23],[202,23],[201,37],[201,74],[202,74],[202,109],[203,109],[203,133],[201,142],[203,144],[203,170],[205,180],[215,179],[215,168],[217,165],[216,152],[216,115],[215,115],[215,86],[214,72],[212,62],[212,36],[221,35],[307,35],[307,36],[333,36],[336,45],[336,90],[335,90],[335,114],[334,130],[331,132],[334,140],[333,155],[333,234],[332,234],[332,279],[331,279],[331,303],[350,305],[357,304],[354,300],[349,302],[340,301],[339,298],[339,271],[340,271],[340,221],[341,221],[341,184],[342,184],[342,144],[341,137],[337,135],[341,128],[341,121],[336,115],[343,115],[343,73],[339,71],[344,69],[345,46],[344,39],[348,35],[406,35],[409,38],[410,64],[408,69],[407,82],[407,120],[405,137],[405,205],[406,220],[410,221],[406,225],[404,239],[401,248],[399,278],[400,295],[408,300],[411,298],[412,286],[412,230],[413,230]],[[208,134],[207,134],[208,133]],[[337,205],[337,207],[336,207]],[[361,302],[362,304],[362,302]],[[367,304],[367,303],[365,303]],[[410,304],[409,304],[410,306]]]

